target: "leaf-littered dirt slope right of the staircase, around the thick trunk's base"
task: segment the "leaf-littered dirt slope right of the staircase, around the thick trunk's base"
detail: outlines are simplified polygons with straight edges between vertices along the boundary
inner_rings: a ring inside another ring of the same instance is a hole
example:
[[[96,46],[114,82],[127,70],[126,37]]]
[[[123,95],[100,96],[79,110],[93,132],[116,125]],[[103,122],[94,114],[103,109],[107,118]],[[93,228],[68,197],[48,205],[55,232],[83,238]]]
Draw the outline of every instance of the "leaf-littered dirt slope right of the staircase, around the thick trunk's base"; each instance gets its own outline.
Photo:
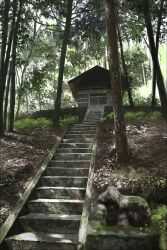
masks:
[[[96,195],[108,184],[123,194],[141,195],[150,202],[167,204],[167,135],[163,121],[127,124],[131,159],[117,166],[113,150],[113,124],[100,124],[94,187]]]

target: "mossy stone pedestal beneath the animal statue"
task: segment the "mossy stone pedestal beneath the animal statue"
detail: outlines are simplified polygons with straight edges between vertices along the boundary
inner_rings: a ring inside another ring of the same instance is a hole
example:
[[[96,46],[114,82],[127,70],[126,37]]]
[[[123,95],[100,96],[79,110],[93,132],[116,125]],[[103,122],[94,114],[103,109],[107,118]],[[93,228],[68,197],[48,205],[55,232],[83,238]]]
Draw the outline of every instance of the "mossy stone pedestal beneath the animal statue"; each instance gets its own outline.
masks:
[[[89,226],[86,250],[160,250],[158,233],[142,232],[140,228]]]

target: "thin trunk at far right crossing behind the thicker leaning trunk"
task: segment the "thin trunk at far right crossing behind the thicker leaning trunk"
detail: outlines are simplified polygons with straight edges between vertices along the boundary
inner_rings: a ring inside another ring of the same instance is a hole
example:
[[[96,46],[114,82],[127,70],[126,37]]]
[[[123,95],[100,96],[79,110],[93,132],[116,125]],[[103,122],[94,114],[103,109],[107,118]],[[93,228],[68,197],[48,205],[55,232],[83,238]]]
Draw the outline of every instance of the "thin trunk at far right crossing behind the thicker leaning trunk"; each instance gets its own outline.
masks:
[[[160,29],[161,29],[161,24],[162,24],[162,13],[163,13],[163,8],[164,8],[164,2],[165,0],[161,0],[161,6],[159,10],[159,18],[158,18],[158,23],[157,23],[157,34],[156,34],[156,52],[157,52],[157,57],[158,57],[158,50],[159,50],[159,39],[160,39]],[[153,67],[153,83],[152,83],[152,102],[151,106],[154,109],[156,101],[156,68]]]

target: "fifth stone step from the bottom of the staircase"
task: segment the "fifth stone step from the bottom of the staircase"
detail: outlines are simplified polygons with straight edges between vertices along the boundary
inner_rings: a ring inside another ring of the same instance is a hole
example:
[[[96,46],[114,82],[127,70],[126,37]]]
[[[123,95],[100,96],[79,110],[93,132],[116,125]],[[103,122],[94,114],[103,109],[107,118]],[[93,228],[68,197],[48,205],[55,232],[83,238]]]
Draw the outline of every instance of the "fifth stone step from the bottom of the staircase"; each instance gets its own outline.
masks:
[[[87,180],[87,177],[80,176],[44,176],[40,179],[40,185],[48,187],[85,187]]]

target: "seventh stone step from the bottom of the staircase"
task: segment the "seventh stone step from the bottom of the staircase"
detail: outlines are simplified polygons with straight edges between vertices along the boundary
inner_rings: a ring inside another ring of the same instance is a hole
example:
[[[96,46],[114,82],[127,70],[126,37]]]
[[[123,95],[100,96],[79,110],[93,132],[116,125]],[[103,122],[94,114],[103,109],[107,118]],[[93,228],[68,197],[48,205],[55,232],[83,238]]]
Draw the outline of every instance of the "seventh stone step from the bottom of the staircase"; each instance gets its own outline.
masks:
[[[52,160],[50,167],[89,168],[90,160]]]

